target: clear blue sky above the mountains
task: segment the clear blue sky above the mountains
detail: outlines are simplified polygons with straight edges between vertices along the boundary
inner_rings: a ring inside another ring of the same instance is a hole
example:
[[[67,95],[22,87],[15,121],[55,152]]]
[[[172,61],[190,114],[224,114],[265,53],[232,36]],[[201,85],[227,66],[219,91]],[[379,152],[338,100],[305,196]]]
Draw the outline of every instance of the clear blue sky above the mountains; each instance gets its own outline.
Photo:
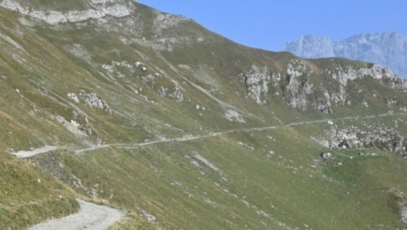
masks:
[[[183,14],[209,30],[256,48],[278,51],[301,35],[335,41],[360,33],[407,35],[405,0],[138,0]]]

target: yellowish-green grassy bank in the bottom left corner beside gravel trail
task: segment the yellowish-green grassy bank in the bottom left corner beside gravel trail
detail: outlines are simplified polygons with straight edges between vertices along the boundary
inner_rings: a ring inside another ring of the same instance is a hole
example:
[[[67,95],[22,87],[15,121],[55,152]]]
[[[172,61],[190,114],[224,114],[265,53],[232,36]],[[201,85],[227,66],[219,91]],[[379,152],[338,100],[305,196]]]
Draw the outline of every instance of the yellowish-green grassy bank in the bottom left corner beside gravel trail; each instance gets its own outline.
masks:
[[[2,229],[26,228],[79,208],[73,194],[60,182],[4,152],[0,152],[0,177]]]

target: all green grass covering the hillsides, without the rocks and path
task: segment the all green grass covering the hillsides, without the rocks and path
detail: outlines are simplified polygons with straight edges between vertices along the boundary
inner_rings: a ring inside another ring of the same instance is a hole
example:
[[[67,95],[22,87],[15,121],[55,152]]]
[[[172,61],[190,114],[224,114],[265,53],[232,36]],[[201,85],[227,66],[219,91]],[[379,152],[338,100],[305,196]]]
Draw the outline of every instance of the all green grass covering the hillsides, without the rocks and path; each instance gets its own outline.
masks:
[[[55,10],[87,7],[83,1],[77,1],[75,6],[60,2],[26,4]],[[312,100],[321,100],[324,91],[332,93],[339,88],[339,82],[326,69],[334,71],[338,66],[357,69],[370,64],[344,59],[304,60],[313,74],[299,77],[299,82],[309,81],[315,91],[308,95],[308,110],[298,112],[283,97],[287,65],[298,57],[287,52],[244,47],[191,20],[156,35],[152,28],[154,15],[152,9],[137,4],[134,16],[137,18],[132,19],[140,22],[143,29],[132,34],[106,32],[102,27],[95,30],[94,20],[86,21],[86,25],[67,24],[64,30],[46,25],[26,28],[18,22],[15,13],[0,9],[3,22],[0,33],[24,49],[17,50],[0,40],[0,150],[10,146],[16,151],[28,150],[44,145],[66,149],[37,156],[28,163],[8,154],[0,155],[0,178],[4,180],[0,182],[0,228],[22,228],[51,216],[67,215],[78,208],[73,193],[91,197],[96,187],[95,200],[128,211],[128,217],[111,229],[279,229],[284,228],[282,223],[300,229],[306,225],[313,229],[406,227],[400,222],[397,204],[398,192],[407,192],[403,176],[407,173],[405,160],[395,153],[376,149],[329,150],[319,146],[310,137],[323,137],[324,131],[331,128],[325,122],[237,131],[136,149],[112,147],[75,155],[72,150],[97,145],[97,139],[103,143],[141,143],[322,119],[333,120],[339,128],[353,125],[369,131],[380,125],[391,127],[400,135],[407,134],[405,115],[364,119],[371,128],[363,126],[362,119],[338,120],[387,113],[389,109],[397,112],[398,107],[407,105],[405,93],[393,90],[389,86],[391,82],[370,77],[348,81],[345,90],[351,105],[333,105],[334,114],[313,109]],[[118,22],[109,23],[118,26]],[[12,29],[17,25],[21,33]],[[157,51],[139,43],[126,45],[121,41],[143,37],[190,40],[175,42],[172,51]],[[201,37],[204,40],[198,42]],[[75,43],[88,51],[91,60],[82,60],[64,48]],[[13,54],[26,63],[18,64]],[[124,77],[114,72],[110,79],[102,65],[112,61],[143,62],[147,70],[120,67],[116,70]],[[188,65],[191,69],[178,65]],[[282,77],[275,87],[269,85],[266,105],[258,105],[246,97],[246,85],[240,74],[253,65],[268,67]],[[156,72],[160,76],[154,83],[141,80],[143,75]],[[205,75],[217,86],[206,82],[202,77]],[[246,123],[226,120],[225,108],[186,79],[236,107]],[[182,102],[158,94],[161,87],[171,90],[176,86],[184,94]],[[68,93],[80,90],[96,93],[107,102],[112,113],[68,98]],[[274,96],[275,92],[280,96]],[[387,106],[390,98],[397,98],[397,104],[391,108]],[[369,107],[362,104],[364,100],[369,102]],[[195,105],[206,109],[197,110]],[[89,137],[78,138],[51,119],[53,114],[59,114],[70,122],[74,111],[80,114],[77,122],[83,125],[86,119],[89,121],[92,130]],[[396,119],[403,121],[398,121],[396,126]],[[318,160],[319,154],[326,151],[332,152],[334,159]],[[359,152],[375,152],[377,156],[350,159]],[[196,154],[213,165],[207,165]],[[64,185],[39,167],[56,175]],[[76,186],[75,177],[82,186]],[[37,179],[42,182],[38,183]],[[69,192],[67,185],[75,192]],[[59,199],[60,194],[64,199]],[[158,223],[147,223],[139,216],[139,209],[156,216]]]

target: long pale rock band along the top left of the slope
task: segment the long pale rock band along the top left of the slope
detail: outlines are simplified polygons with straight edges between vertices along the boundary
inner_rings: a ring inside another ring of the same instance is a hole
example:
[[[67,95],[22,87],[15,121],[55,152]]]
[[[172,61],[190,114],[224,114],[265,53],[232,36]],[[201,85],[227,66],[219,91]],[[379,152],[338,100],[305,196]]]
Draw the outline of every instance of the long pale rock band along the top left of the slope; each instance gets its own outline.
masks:
[[[14,0],[3,0],[0,6],[9,10],[18,11],[21,14],[41,19],[48,24],[59,24],[64,22],[79,22],[90,18],[98,19],[105,16],[125,17],[130,15],[134,6],[125,1],[113,0],[90,0],[90,8],[82,11],[54,11],[54,10],[32,10]]]

